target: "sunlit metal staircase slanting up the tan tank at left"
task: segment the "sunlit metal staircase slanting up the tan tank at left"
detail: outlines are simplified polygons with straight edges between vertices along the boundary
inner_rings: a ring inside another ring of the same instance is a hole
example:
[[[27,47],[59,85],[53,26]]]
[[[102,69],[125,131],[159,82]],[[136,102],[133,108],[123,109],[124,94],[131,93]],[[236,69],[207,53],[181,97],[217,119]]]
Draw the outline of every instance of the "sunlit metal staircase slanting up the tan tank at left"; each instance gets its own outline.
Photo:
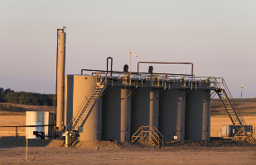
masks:
[[[66,130],[78,130],[78,127],[85,124],[90,112],[94,109],[94,106],[102,96],[105,87],[105,78],[96,78],[89,92],[87,92],[84,100],[80,104],[80,107],[75,112],[75,115],[73,115],[72,120],[70,120],[70,124],[67,126]]]

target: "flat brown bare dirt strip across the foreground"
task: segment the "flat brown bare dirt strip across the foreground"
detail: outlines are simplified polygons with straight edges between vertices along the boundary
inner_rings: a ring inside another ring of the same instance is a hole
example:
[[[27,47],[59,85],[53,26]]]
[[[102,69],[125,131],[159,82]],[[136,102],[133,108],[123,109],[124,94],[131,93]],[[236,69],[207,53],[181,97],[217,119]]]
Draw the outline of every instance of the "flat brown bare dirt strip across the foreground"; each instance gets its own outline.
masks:
[[[0,148],[1,164],[255,164],[255,147],[228,148]]]

